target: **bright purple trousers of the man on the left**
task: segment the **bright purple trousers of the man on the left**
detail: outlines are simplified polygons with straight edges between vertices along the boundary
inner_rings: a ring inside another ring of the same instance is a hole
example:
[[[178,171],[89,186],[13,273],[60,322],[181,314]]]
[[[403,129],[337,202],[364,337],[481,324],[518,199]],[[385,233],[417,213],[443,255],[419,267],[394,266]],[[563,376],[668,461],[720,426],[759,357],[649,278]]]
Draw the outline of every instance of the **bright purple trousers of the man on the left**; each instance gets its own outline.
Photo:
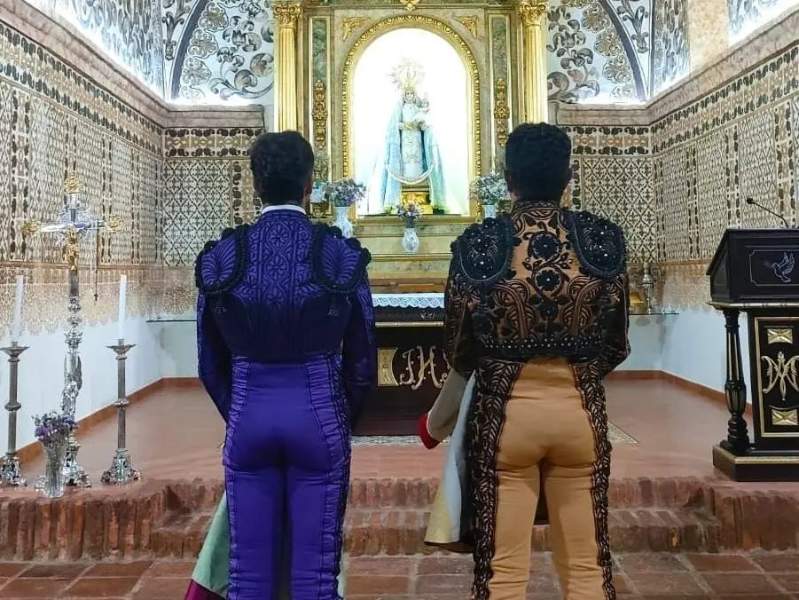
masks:
[[[338,600],[350,459],[341,359],[293,365],[236,359],[232,381],[223,457],[228,598],[276,600],[286,560],[293,600]]]

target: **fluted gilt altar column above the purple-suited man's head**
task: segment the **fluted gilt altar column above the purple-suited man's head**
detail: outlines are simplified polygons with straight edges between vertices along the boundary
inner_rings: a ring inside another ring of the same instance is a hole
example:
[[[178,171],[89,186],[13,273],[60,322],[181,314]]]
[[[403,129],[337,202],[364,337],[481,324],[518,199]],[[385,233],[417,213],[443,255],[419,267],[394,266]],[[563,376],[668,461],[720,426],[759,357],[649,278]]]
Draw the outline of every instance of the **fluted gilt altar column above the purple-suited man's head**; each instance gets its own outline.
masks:
[[[297,24],[300,3],[278,3],[272,7],[278,31],[275,40],[275,130],[299,130],[297,103]]]

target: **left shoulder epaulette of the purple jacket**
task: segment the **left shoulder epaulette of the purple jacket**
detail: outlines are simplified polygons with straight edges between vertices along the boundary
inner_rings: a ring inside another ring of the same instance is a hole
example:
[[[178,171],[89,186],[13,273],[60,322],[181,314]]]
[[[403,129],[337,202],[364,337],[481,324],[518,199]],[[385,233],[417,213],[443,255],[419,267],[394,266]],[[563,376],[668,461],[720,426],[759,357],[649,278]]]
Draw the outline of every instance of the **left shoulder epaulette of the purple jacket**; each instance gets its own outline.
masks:
[[[249,225],[229,227],[218,241],[208,241],[194,263],[194,284],[205,296],[219,296],[235,288],[247,267]]]

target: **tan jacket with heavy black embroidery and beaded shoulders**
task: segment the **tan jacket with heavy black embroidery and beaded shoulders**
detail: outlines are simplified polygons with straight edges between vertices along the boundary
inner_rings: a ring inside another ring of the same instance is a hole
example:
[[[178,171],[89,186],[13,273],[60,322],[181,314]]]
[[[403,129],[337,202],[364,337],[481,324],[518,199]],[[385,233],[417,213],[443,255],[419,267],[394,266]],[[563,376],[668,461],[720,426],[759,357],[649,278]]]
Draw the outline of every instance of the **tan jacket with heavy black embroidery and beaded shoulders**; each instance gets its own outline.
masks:
[[[588,212],[520,204],[452,244],[447,359],[468,378],[481,359],[599,361],[603,377],[630,353],[622,230]]]

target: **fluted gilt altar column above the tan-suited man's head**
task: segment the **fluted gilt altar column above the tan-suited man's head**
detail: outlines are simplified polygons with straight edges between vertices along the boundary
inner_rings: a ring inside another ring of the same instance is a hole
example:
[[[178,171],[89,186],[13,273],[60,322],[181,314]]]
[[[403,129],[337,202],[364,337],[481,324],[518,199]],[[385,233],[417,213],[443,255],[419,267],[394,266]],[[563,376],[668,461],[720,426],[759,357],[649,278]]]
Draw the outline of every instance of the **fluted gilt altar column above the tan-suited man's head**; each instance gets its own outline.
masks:
[[[546,122],[546,36],[544,18],[547,0],[520,0],[521,18],[521,122]]]

